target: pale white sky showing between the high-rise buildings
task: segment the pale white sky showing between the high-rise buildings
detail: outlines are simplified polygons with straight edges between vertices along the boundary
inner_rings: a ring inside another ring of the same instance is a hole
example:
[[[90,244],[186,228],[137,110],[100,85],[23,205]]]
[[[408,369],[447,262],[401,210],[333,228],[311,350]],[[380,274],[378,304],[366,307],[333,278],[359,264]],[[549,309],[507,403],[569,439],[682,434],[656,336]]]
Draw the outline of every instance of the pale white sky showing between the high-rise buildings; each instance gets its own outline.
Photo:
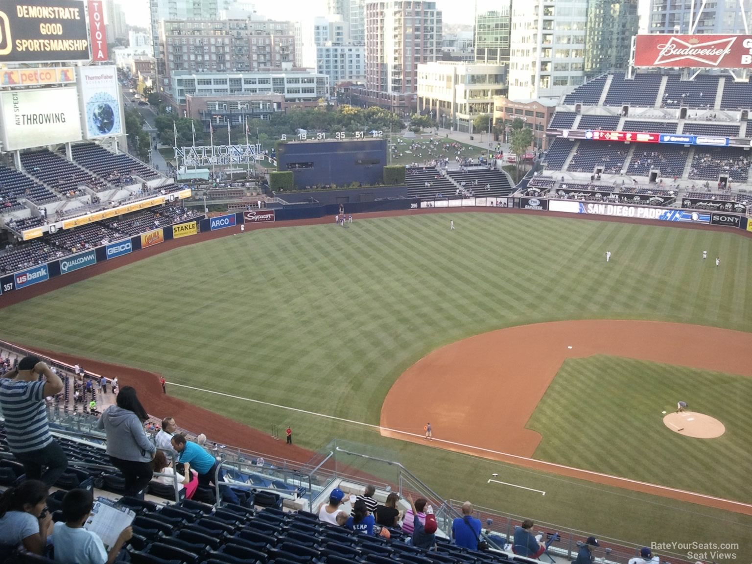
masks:
[[[436,8],[443,12],[444,22],[472,23],[473,11],[467,9],[465,0],[437,0]],[[148,0],[120,2],[126,14],[126,22],[131,26],[149,27]],[[326,15],[326,0],[282,0],[281,2],[260,2],[256,0],[256,11],[271,20],[307,21]]]

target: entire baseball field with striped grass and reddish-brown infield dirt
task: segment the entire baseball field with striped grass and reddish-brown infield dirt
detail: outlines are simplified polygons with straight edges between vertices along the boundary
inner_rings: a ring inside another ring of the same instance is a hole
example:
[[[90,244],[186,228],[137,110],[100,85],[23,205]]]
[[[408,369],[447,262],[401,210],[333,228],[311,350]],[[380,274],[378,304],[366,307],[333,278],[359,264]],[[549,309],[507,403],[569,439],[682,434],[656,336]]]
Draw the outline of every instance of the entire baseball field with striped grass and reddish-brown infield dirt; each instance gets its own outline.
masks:
[[[258,429],[290,424],[311,450],[383,447],[446,498],[748,557],[750,266],[745,238],[663,226],[280,224],[8,306],[0,336],[159,372],[168,393]],[[724,432],[672,429],[680,400]]]

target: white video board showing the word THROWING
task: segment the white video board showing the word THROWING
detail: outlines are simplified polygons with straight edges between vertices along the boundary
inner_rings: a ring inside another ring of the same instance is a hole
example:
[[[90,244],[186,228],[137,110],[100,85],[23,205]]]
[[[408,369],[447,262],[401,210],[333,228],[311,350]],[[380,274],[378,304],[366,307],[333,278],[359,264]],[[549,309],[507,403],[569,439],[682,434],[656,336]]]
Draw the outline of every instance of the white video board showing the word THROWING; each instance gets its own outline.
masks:
[[[81,140],[75,88],[2,92],[3,150]]]

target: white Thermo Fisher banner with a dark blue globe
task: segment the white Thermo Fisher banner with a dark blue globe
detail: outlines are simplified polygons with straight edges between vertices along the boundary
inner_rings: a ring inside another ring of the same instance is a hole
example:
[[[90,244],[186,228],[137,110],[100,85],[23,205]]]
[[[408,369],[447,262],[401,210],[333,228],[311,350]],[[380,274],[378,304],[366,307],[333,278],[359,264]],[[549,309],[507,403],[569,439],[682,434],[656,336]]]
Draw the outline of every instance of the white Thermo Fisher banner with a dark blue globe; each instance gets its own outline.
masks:
[[[81,67],[81,115],[87,139],[120,135],[123,111],[120,109],[117,67]]]

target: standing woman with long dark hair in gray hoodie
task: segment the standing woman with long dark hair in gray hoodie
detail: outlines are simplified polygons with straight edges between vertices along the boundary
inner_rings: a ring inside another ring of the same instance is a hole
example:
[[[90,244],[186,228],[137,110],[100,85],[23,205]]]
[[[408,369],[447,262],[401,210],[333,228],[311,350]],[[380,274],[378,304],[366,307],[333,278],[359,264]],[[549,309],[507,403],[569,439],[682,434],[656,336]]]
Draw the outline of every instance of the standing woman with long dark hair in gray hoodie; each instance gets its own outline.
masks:
[[[151,460],[156,447],[144,431],[149,416],[138,401],[136,390],[126,386],[117,394],[117,405],[111,405],[99,418],[97,429],[107,433],[107,453],[113,466],[126,478],[126,496],[138,496],[151,481]]]

